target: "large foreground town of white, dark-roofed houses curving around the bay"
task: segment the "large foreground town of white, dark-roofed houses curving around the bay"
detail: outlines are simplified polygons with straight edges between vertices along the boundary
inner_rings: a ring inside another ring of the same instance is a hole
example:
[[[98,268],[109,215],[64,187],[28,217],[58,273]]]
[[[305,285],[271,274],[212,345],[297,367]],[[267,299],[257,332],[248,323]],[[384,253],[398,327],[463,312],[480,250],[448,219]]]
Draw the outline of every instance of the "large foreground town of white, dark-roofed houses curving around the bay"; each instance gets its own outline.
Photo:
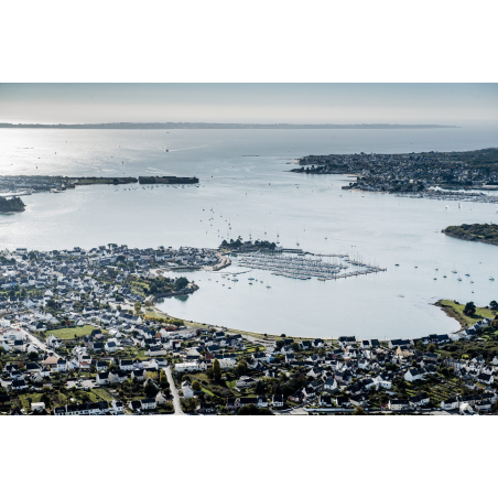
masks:
[[[198,289],[166,271],[217,271],[223,259],[213,249],[116,243],[3,250],[0,413],[498,411],[495,301],[484,318],[467,303],[465,316],[478,318],[457,333],[396,340],[245,333],[173,318],[153,306],[161,296]]]

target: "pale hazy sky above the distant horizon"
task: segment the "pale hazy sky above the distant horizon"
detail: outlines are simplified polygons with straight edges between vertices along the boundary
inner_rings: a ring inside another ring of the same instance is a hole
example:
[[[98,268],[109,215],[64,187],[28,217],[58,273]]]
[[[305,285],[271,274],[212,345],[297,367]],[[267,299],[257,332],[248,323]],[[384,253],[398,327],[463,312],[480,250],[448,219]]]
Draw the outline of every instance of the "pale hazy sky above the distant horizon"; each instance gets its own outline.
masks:
[[[0,84],[0,122],[464,124],[498,121],[498,84]]]

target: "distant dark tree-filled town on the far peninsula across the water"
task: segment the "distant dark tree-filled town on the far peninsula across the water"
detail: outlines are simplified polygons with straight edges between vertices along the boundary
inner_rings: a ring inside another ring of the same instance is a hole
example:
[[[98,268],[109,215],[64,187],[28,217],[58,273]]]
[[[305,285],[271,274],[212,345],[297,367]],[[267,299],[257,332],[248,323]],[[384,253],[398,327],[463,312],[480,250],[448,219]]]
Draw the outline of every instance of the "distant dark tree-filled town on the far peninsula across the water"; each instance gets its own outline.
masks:
[[[407,154],[308,155],[305,174],[348,174],[357,180],[344,188],[367,192],[426,195],[431,187],[446,190],[498,190],[498,149],[469,152],[420,152]],[[446,193],[447,194],[447,193]],[[468,194],[466,194],[468,197]],[[470,197],[477,201],[478,197]]]

